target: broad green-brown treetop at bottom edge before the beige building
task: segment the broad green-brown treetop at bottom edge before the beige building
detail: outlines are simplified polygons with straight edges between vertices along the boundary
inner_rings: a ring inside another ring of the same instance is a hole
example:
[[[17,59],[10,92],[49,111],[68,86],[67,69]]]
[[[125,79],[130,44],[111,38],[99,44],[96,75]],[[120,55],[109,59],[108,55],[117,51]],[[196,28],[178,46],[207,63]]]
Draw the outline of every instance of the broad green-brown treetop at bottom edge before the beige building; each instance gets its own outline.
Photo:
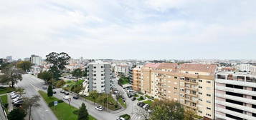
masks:
[[[176,101],[156,100],[151,106],[150,120],[184,119],[184,108]]]

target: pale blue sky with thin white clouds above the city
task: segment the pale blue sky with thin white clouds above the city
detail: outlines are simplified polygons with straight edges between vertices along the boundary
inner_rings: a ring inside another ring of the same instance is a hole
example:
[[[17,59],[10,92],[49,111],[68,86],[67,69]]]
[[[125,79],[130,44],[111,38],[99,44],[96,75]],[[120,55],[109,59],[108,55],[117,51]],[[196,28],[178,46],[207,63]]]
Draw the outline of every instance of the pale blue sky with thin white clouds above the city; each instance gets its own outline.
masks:
[[[0,1],[0,58],[256,59],[255,0]]]

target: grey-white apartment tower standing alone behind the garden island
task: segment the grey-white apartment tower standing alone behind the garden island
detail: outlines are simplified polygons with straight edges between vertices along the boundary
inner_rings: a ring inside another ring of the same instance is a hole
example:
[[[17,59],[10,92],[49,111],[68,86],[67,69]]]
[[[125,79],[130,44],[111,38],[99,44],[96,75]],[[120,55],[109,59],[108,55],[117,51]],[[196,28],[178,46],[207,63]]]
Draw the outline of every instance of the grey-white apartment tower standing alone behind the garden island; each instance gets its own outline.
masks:
[[[110,94],[110,64],[103,61],[91,62],[87,70],[89,91]]]

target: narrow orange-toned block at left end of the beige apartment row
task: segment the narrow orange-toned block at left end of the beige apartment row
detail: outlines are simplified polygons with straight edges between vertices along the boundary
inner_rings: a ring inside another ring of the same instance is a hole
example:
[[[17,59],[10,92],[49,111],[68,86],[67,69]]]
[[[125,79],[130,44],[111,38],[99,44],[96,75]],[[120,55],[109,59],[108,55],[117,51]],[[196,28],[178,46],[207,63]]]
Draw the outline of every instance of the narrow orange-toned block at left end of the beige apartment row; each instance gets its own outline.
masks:
[[[135,91],[141,91],[141,67],[142,66],[136,66],[135,68],[133,68],[133,90]]]

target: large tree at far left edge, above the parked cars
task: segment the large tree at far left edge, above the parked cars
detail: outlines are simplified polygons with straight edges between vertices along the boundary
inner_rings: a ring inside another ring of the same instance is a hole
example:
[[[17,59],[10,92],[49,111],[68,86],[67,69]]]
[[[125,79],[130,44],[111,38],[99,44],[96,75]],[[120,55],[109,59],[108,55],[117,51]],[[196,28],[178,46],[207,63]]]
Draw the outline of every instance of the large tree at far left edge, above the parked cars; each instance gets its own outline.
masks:
[[[14,87],[14,84],[18,83],[18,81],[22,81],[23,71],[15,66],[6,67],[3,72],[4,75],[0,76],[1,83],[11,82],[11,87]]]

